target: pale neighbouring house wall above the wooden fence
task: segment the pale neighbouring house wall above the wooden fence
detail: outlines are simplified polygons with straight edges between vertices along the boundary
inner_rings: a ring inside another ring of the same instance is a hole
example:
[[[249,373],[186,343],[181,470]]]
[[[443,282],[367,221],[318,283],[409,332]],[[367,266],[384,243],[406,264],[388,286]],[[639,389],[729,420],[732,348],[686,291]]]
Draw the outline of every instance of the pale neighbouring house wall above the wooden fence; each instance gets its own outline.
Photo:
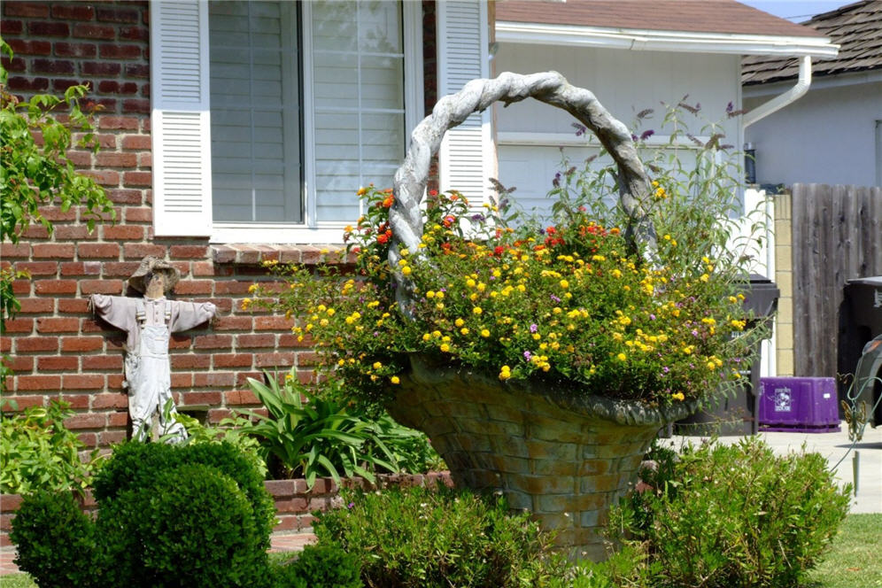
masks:
[[[769,98],[746,99],[745,105],[754,108]],[[882,81],[810,88],[806,96],[745,131],[756,149],[756,179],[787,186],[879,185],[877,120],[882,120]]]

